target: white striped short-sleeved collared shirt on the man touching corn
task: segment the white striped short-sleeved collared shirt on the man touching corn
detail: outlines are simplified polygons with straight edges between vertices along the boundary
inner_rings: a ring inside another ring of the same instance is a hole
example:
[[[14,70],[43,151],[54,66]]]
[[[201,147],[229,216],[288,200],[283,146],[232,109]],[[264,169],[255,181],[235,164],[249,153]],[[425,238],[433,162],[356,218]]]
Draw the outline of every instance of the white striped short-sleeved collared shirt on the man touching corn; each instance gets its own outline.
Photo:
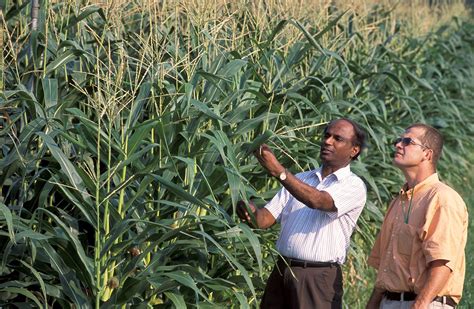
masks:
[[[326,191],[335,212],[311,209],[285,188],[265,206],[281,223],[276,247],[281,255],[317,262],[344,263],[351,234],[365,205],[364,182],[347,165],[321,179],[321,168],[299,173],[298,179]]]

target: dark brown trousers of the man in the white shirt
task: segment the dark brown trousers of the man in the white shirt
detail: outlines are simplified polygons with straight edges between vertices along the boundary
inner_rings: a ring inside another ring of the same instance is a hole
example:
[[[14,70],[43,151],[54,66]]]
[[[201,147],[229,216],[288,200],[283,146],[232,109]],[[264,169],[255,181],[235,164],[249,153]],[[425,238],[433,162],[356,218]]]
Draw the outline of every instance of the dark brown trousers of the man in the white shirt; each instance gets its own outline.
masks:
[[[340,309],[342,271],[339,265],[288,267],[279,260],[267,281],[262,309]]]

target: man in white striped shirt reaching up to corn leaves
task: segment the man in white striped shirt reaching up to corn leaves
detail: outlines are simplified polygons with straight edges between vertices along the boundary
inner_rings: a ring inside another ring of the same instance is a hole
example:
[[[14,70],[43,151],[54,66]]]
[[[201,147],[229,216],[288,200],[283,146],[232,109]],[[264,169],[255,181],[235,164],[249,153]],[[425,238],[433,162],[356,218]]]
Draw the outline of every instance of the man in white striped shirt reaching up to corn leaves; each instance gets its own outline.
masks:
[[[349,119],[331,121],[321,142],[321,168],[291,174],[267,145],[254,155],[282,188],[264,207],[252,203],[258,228],[280,222],[282,255],[267,282],[262,308],[341,308],[342,272],[349,241],[366,200],[364,182],[350,170],[365,133]],[[250,222],[240,202],[238,215]]]

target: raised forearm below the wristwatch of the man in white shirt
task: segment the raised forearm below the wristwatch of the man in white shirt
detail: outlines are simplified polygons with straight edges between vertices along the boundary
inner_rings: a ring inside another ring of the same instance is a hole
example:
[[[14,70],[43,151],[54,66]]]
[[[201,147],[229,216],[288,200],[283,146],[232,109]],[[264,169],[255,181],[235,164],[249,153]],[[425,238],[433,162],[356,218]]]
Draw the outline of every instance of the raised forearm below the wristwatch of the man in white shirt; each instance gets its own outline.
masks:
[[[329,193],[319,191],[289,172],[287,173],[287,178],[281,181],[281,183],[292,196],[309,208],[323,211],[337,210]]]

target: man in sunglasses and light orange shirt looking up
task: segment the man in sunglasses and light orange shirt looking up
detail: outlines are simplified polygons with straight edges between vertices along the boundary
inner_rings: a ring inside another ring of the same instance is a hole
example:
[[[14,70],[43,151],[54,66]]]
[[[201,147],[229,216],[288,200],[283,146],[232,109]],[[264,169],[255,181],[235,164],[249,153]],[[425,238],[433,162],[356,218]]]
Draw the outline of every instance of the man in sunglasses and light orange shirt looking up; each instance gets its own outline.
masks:
[[[438,180],[443,138],[414,124],[394,145],[406,183],[369,257],[378,273],[367,309],[453,308],[464,283],[468,214],[459,194]]]

